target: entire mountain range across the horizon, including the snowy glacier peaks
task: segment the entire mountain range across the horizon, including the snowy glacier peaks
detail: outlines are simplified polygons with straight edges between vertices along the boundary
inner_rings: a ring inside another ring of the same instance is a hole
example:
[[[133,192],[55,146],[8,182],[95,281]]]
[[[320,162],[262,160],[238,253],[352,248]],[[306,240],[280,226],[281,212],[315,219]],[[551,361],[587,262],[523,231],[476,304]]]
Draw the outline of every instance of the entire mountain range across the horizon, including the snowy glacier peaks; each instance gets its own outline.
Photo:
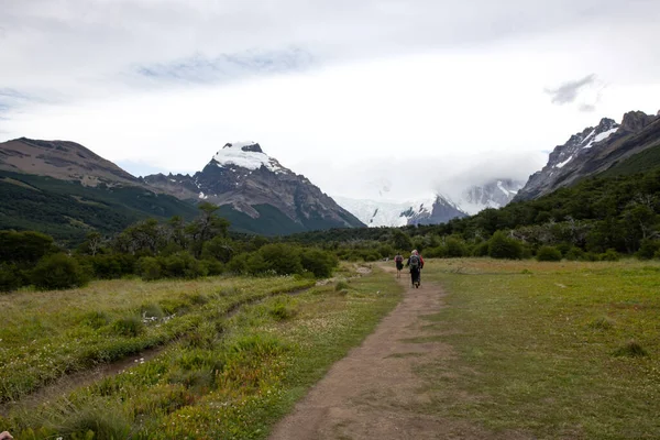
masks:
[[[639,162],[634,169],[660,165],[660,113],[632,111],[620,123],[602,119],[556,146],[525,184],[503,176],[458,196],[439,191],[408,202],[338,197],[338,205],[256,142],[224,144],[194,175],[135,177],[80,144],[21,138],[0,143],[0,229],[76,243],[89,231],[111,234],[147,217],[191,218],[200,201],[218,205],[235,231],[266,235],[442,223],[619,173],[631,161]]]

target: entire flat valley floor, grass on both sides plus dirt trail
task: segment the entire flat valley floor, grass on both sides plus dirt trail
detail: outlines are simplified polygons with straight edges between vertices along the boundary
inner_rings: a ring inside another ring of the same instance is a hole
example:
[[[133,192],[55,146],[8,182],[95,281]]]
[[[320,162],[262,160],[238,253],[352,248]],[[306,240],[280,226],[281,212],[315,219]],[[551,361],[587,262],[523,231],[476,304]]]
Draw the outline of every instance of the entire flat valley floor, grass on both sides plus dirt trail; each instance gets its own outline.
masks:
[[[309,284],[276,277],[2,297],[13,317],[0,327],[2,353],[13,369],[0,364],[11,405],[0,430],[26,439],[660,438],[659,263],[429,260],[419,289],[397,283],[392,264],[346,265],[295,296],[286,292]],[[134,310],[158,308],[169,321],[134,336],[122,327]],[[43,356],[54,353],[53,334],[62,359]],[[86,338],[96,351],[76,342]],[[164,349],[135,367],[40,405],[25,397],[67,365],[84,371],[99,353],[150,344]]]

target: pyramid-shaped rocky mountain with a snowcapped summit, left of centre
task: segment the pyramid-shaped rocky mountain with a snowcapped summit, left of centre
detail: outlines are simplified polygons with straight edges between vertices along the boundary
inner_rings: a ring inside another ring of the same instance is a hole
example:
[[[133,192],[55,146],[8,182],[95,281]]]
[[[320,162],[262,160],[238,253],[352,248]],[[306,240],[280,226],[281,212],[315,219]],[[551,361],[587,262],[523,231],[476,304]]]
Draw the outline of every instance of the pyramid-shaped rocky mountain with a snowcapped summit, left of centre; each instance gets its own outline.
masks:
[[[315,229],[363,227],[305,176],[282,166],[255,142],[226,144],[201,172],[189,175],[152,175],[152,187],[182,199],[206,200],[235,229],[286,234]],[[270,208],[266,208],[270,207]]]

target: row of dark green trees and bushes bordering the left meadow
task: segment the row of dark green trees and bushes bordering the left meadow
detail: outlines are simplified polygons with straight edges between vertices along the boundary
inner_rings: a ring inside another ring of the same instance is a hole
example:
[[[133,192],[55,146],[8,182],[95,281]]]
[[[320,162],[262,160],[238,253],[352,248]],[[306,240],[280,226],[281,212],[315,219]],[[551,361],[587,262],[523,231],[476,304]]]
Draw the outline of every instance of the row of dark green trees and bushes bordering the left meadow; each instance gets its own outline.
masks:
[[[217,206],[202,202],[198,208],[188,222],[175,216],[140,221],[114,237],[90,232],[73,250],[44,233],[0,231],[0,292],[28,285],[68,288],[124,276],[153,280],[230,272],[327,277],[339,263],[334,253],[316,246],[230,234]]]

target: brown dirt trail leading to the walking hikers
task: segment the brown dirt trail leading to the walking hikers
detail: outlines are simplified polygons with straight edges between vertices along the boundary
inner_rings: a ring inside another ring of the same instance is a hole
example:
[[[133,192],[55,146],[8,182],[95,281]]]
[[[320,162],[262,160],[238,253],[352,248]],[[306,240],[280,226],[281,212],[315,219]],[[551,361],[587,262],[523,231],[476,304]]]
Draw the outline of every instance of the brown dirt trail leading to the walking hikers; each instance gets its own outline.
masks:
[[[399,282],[409,286],[409,276]],[[429,395],[414,369],[453,355],[450,345],[433,338],[424,342],[433,333],[425,330],[428,321],[421,317],[438,312],[443,295],[440,286],[429,283],[419,289],[408,287],[395,310],[331,367],[275,427],[271,440],[499,438],[466,422],[415,410],[429,403]]]

